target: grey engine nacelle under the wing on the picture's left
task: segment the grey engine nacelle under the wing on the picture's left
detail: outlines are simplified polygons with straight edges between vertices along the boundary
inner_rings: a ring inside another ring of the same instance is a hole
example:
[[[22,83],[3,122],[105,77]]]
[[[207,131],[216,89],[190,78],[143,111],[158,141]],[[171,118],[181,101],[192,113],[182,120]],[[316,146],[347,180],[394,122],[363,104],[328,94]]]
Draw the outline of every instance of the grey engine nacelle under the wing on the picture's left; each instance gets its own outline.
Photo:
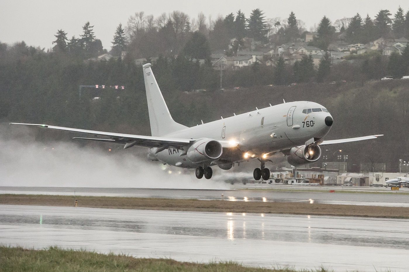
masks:
[[[218,160],[223,153],[222,144],[218,141],[203,138],[194,142],[187,150],[187,158],[191,162],[212,162]]]

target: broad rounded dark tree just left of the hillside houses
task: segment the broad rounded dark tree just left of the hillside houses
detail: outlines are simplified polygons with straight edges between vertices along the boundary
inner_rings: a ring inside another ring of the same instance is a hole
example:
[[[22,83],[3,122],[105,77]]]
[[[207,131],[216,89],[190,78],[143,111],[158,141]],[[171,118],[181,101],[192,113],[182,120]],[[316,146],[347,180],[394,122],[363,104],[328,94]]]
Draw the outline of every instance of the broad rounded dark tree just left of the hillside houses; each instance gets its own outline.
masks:
[[[183,48],[183,53],[189,58],[207,59],[210,57],[210,46],[205,35],[195,31]]]

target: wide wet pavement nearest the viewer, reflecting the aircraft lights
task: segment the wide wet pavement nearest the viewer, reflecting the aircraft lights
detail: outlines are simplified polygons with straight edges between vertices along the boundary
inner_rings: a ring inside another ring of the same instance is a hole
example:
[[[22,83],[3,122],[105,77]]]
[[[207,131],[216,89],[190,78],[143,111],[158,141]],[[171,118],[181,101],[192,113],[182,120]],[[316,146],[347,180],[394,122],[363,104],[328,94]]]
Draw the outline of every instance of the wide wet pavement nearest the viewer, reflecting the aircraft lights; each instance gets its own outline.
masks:
[[[409,220],[0,205],[0,243],[178,261],[408,271]]]

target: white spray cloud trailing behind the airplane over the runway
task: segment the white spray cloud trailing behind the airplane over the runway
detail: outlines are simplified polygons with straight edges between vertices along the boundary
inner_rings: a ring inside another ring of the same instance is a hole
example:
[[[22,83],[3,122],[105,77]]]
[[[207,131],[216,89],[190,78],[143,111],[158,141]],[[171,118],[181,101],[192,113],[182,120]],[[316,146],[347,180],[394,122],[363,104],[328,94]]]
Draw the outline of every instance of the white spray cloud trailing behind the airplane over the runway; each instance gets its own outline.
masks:
[[[109,152],[93,144],[43,143],[35,140],[36,129],[0,125],[0,186],[228,189],[196,179],[193,171],[150,162],[144,148]]]

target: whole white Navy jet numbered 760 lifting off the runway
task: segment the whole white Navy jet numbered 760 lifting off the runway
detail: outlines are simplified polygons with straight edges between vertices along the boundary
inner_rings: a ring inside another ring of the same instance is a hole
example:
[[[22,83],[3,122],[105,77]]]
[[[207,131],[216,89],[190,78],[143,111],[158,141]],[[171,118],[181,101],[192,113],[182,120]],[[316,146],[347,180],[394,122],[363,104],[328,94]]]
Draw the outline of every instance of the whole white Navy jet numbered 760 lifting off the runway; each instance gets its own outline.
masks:
[[[229,170],[235,163],[251,159],[260,161],[253,171],[255,180],[268,180],[270,170],[265,163],[269,157],[282,152],[293,166],[317,161],[322,145],[375,139],[382,135],[324,141],[333,125],[328,110],[315,102],[285,102],[267,108],[256,108],[240,115],[187,127],[173,120],[151,64],[143,65],[149,121],[152,136],[111,133],[45,124],[20,124],[56,130],[85,133],[74,137],[97,142],[149,148],[148,159],[182,168],[196,169],[196,177],[210,179],[211,166]]]

